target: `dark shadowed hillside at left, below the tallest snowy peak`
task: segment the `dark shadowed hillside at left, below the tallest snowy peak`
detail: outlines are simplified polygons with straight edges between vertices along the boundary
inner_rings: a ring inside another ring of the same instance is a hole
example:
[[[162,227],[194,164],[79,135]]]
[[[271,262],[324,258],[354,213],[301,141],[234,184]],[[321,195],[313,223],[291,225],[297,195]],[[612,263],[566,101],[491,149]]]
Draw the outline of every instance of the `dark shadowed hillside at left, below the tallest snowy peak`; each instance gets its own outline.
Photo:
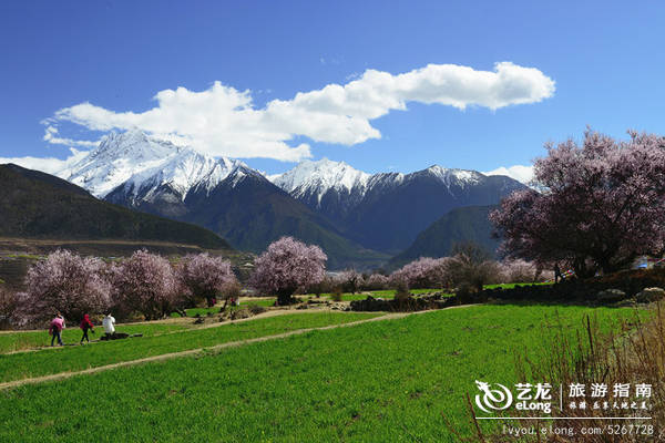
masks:
[[[0,165],[0,237],[158,240],[229,249],[214,233],[99,200],[37,171]]]

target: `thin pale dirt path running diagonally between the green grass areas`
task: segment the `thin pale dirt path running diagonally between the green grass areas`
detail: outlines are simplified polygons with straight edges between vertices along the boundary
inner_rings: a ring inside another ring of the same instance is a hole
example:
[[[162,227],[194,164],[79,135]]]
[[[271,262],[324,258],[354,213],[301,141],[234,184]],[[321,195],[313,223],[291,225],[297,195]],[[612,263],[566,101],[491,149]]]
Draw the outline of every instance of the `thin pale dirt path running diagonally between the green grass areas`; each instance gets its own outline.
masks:
[[[471,307],[471,306],[475,306],[475,305],[453,306],[453,307],[446,308],[446,309],[467,308],[467,307]],[[434,312],[434,311],[426,310],[426,311],[418,311],[418,312],[387,313],[381,317],[374,317],[374,318],[366,319],[366,320],[351,321],[349,323],[329,324],[329,326],[324,326],[320,328],[297,329],[295,331],[283,332],[283,333],[278,333],[278,334],[274,334],[274,336],[257,337],[257,338],[247,339],[247,340],[229,341],[229,342],[219,343],[219,344],[216,344],[213,347],[197,348],[197,349],[190,349],[186,351],[164,353],[161,356],[146,357],[144,359],[130,360],[130,361],[123,361],[120,363],[106,364],[103,367],[84,369],[82,371],[60,372],[57,374],[34,377],[31,379],[14,380],[14,381],[0,383],[0,390],[18,388],[18,387],[22,387],[24,384],[35,384],[35,383],[43,383],[47,381],[64,380],[64,379],[69,379],[70,377],[74,377],[74,375],[92,374],[95,372],[108,371],[108,370],[116,369],[116,368],[131,367],[131,365],[151,363],[151,362],[163,361],[163,360],[171,360],[171,359],[176,359],[176,358],[187,357],[187,356],[196,356],[196,354],[202,354],[204,352],[211,352],[211,351],[216,352],[216,351],[221,351],[226,348],[241,347],[241,346],[245,346],[245,344],[258,343],[262,341],[278,340],[278,339],[284,339],[284,338],[291,337],[291,336],[300,336],[300,334],[311,332],[311,331],[326,331],[329,329],[347,328],[347,327],[354,327],[354,326],[358,326],[358,324],[362,324],[362,323],[369,323],[372,321],[396,320],[396,319],[401,319],[401,318],[405,318],[408,316],[415,316],[415,315],[427,313],[427,312]],[[245,319],[245,320],[249,320],[249,319]],[[237,320],[237,321],[242,321],[242,320]],[[224,324],[224,323],[222,323],[222,324]]]

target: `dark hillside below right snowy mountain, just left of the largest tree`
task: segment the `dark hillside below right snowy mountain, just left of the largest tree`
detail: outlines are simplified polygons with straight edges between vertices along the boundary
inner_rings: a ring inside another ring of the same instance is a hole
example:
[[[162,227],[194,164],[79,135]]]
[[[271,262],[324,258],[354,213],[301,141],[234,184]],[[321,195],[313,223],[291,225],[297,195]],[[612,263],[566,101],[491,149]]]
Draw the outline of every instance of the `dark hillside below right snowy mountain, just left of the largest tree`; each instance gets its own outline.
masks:
[[[473,241],[495,254],[499,240],[491,237],[488,219],[497,206],[468,206],[452,209],[418,235],[416,241],[393,257],[389,268],[397,268],[419,257],[446,257],[456,243]]]

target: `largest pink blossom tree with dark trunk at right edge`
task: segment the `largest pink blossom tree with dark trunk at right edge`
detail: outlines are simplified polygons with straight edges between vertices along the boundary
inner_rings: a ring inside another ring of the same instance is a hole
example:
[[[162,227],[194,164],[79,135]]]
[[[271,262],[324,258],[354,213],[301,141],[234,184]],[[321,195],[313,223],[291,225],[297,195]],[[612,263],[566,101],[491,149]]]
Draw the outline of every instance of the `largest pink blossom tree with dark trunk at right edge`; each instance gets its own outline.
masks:
[[[585,277],[663,249],[664,137],[631,133],[617,142],[587,130],[581,145],[546,148],[534,163],[540,192],[515,192],[490,216],[508,257],[565,261]]]

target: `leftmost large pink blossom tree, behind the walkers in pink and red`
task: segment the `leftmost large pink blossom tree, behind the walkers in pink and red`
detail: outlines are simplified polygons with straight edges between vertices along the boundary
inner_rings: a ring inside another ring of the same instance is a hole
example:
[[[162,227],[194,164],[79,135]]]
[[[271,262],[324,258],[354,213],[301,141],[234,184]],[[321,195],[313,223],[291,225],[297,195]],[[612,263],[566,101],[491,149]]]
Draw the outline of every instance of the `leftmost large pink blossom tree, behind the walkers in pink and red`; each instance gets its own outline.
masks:
[[[16,300],[17,315],[32,323],[49,320],[58,311],[74,321],[84,313],[103,312],[111,295],[104,268],[99,258],[81,257],[69,250],[49,254],[28,269],[27,290]]]

